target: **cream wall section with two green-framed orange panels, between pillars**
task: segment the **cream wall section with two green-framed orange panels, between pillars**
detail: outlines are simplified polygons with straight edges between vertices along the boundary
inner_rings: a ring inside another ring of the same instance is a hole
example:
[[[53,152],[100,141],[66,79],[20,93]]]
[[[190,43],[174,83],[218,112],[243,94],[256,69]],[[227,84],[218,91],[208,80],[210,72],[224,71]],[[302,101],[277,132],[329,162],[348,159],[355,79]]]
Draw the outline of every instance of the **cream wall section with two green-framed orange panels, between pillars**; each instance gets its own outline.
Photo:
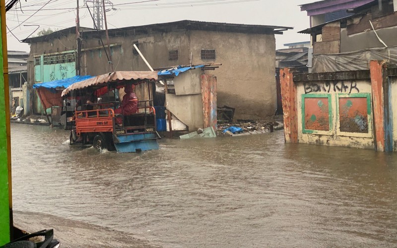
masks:
[[[298,142],[374,148],[369,79],[299,82],[296,89]]]

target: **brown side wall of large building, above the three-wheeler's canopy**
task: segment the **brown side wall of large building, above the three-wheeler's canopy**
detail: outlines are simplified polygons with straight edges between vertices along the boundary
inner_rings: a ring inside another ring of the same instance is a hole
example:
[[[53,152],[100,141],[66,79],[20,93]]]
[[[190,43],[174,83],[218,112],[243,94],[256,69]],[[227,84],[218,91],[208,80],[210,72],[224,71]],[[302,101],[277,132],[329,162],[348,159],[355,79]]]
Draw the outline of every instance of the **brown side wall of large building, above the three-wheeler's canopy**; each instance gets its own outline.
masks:
[[[189,63],[189,36],[187,31],[170,33],[148,33],[110,37],[110,44],[119,44],[112,47],[113,67],[115,70],[149,70],[139,55],[133,53],[133,44],[138,42],[138,48],[153,68],[188,64]],[[84,48],[98,47],[98,38],[84,41]],[[178,50],[178,60],[169,60],[169,52]],[[86,64],[86,73],[100,75],[110,71],[110,65],[104,49],[94,49],[84,52],[82,63]]]

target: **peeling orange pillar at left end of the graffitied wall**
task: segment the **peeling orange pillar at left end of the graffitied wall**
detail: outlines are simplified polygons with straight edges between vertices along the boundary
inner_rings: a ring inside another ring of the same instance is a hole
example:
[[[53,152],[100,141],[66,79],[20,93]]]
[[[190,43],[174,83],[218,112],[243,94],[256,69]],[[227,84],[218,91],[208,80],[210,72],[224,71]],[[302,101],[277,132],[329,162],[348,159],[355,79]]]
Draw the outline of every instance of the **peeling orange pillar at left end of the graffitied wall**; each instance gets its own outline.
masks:
[[[284,136],[286,143],[298,143],[298,116],[296,86],[289,68],[280,69],[281,100],[284,112]]]

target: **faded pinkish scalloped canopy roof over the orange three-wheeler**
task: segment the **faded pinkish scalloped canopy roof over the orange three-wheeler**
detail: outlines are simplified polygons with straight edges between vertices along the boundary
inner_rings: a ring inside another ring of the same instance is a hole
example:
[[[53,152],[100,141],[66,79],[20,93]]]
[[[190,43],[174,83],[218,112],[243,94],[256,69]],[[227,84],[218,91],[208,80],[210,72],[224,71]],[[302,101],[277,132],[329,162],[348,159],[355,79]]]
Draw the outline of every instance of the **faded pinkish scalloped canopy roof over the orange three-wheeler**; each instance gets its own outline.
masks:
[[[82,90],[84,88],[93,88],[95,90],[108,84],[112,84],[116,88],[124,87],[127,83],[136,85],[147,81],[157,81],[157,73],[157,71],[115,71],[106,73],[71,84],[62,92],[62,96],[66,96],[74,90]]]

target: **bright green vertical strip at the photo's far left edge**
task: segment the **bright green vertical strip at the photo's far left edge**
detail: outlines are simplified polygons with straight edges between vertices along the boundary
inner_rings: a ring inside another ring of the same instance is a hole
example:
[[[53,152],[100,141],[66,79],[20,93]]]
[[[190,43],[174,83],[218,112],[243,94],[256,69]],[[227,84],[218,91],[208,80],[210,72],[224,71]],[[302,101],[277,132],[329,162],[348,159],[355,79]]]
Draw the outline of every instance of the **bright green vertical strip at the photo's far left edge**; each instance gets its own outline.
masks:
[[[1,39],[0,39],[1,40]],[[0,42],[0,63],[3,64],[2,45]],[[7,92],[8,94],[8,92]],[[3,66],[0,66],[0,246],[10,239],[10,215],[8,195],[8,154],[7,128],[4,101]]]

